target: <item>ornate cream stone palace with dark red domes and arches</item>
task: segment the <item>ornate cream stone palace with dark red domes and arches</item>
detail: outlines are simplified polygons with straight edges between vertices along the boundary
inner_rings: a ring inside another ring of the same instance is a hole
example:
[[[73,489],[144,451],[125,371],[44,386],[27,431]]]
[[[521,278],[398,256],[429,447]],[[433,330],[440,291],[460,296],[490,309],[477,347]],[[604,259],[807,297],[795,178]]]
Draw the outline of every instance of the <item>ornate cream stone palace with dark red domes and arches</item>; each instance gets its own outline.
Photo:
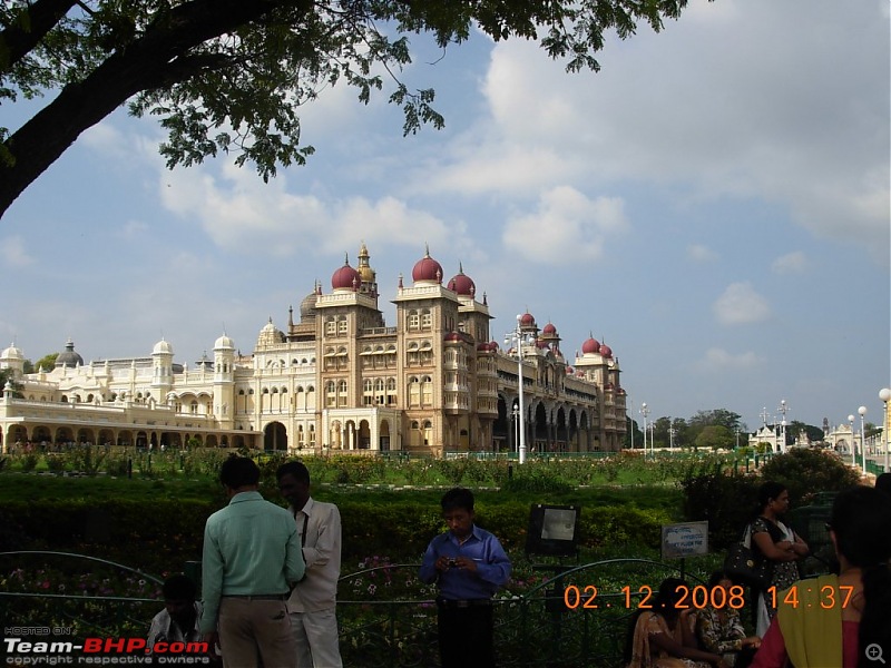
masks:
[[[618,358],[588,338],[570,364],[554,324],[518,317],[502,350],[487,296],[459,267],[446,284],[428,252],[399,284],[395,326],[378,307],[376,273],[362,244],[300,305],[284,330],[272,318],[243,355],[225,334],[193,367],[159,341],[150,355],[85,364],[69,340],[52,370],[25,374],[11,345],[0,400],[0,450],[18,443],[138,448],[256,448],[291,453],[621,448],[625,391]],[[519,350],[518,347],[519,346]],[[520,373],[520,370],[521,373]],[[522,376],[523,415],[519,414]]]

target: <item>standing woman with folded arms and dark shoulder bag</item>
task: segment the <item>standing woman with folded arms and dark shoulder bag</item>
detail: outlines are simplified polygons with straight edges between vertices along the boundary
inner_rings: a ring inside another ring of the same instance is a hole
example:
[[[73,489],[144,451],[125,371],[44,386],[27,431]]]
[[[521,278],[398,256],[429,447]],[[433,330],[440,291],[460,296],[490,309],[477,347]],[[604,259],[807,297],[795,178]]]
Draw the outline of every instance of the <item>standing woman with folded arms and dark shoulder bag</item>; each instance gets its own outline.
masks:
[[[789,510],[789,490],[780,482],[765,482],[758,488],[757,517],[752,521],[752,549],[771,563],[771,583],[758,592],[755,633],[764,637],[767,626],[776,613],[773,602],[777,597],[768,596],[767,589],[776,592],[787,589],[799,579],[796,561],[810,552],[807,543],[781,518]]]

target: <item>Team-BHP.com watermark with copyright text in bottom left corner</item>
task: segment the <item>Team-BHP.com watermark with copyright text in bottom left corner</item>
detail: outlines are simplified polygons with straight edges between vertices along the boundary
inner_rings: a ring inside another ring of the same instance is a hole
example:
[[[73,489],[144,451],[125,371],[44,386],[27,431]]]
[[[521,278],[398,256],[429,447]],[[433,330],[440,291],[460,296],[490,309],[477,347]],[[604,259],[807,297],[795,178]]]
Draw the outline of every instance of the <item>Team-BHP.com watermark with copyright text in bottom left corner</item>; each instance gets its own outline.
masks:
[[[72,627],[3,627],[4,666],[210,666],[206,642],[156,642],[139,637],[74,637]]]

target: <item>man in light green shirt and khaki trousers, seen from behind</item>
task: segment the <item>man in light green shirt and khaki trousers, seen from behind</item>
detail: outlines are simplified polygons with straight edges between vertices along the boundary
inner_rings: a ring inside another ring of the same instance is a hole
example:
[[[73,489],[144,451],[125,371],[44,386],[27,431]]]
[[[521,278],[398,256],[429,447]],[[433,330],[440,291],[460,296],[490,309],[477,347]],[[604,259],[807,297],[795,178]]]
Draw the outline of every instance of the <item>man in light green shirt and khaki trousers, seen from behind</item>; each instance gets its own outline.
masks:
[[[219,640],[225,668],[295,666],[287,597],[303,577],[294,518],[257,491],[260,469],[232,456],[219,469],[229,503],[207,519],[200,631]]]

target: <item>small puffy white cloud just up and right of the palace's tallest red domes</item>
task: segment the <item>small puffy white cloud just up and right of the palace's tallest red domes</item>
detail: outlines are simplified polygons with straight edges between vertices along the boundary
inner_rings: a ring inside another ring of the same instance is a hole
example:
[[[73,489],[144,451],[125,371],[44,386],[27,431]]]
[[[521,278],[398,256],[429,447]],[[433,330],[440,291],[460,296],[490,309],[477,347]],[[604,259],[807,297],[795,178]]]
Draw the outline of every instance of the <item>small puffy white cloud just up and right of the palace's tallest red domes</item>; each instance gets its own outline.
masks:
[[[621,199],[589,199],[568,186],[542,193],[535,212],[515,215],[502,242],[511,252],[542,263],[597,259],[608,238],[628,227]]]

